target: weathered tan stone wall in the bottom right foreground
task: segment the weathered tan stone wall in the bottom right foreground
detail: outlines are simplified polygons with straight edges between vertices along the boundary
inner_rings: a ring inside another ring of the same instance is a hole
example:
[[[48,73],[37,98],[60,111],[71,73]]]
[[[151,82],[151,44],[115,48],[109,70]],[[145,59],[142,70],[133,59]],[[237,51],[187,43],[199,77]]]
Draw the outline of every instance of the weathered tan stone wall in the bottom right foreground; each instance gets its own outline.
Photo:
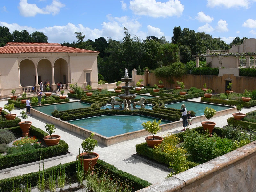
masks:
[[[256,141],[137,192],[256,191]]]

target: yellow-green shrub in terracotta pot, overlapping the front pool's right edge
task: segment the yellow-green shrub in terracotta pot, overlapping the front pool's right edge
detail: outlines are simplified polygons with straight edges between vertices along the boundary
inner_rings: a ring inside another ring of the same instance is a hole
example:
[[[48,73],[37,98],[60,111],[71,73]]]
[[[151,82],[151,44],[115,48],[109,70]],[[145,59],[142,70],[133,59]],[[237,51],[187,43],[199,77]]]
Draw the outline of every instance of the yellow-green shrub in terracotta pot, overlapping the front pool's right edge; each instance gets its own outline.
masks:
[[[156,133],[161,131],[161,127],[159,126],[160,123],[161,120],[156,122],[156,119],[154,119],[154,121],[147,121],[142,123],[143,129],[152,134],[152,136],[145,137],[148,146],[151,148],[155,148],[155,146],[161,144],[164,140],[162,137],[156,136]]]

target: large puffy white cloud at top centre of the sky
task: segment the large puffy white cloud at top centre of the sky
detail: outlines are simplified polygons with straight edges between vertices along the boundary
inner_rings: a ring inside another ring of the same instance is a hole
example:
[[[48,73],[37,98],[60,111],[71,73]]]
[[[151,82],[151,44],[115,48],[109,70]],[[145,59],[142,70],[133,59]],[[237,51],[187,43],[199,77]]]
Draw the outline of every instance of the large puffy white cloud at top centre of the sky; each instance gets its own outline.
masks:
[[[154,18],[181,16],[184,5],[179,0],[169,0],[167,2],[156,2],[156,0],[132,0],[130,9],[137,15],[146,15]]]

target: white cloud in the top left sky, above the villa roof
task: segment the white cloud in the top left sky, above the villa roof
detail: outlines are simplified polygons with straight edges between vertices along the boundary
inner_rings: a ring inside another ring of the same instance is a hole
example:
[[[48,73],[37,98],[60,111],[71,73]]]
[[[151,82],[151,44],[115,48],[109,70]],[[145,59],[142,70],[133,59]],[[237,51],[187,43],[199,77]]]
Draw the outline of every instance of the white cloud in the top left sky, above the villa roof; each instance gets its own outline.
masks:
[[[51,5],[47,5],[41,9],[36,4],[29,4],[27,0],[20,0],[19,3],[20,14],[24,17],[34,17],[36,14],[51,14],[56,15],[60,12],[60,8],[65,5],[60,3],[59,0],[53,0]]]

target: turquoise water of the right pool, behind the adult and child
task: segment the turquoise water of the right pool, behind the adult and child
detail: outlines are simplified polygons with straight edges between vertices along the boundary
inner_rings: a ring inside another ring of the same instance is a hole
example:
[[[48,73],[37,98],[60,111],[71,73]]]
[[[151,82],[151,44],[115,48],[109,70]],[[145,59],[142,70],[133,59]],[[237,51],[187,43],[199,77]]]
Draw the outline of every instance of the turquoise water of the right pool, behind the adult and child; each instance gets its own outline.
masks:
[[[204,115],[204,109],[206,107],[213,108],[216,111],[222,111],[222,110],[225,110],[225,109],[233,108],[233,107],[230,107],[230,106],[214,105],[214,104],[210,104],[210,103],[206,104],[206,103],[191,102],[191,101],[171,103],[171,104],[166,104],[165,106],[168,107],[168,108],[181,109],[182,104],[185,104],[187,111],[195,111],[196,116]]]

